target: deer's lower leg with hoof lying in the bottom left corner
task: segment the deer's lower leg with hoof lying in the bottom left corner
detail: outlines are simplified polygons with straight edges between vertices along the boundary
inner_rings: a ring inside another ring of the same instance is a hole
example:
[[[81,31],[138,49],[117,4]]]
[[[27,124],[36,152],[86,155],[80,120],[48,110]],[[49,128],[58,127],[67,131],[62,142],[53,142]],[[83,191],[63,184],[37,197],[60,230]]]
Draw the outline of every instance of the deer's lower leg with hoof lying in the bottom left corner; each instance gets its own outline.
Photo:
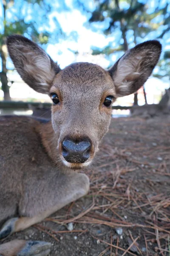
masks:
[[[51,244],[43,241],[13,240],[0,245],[0,256],[47,256]]]

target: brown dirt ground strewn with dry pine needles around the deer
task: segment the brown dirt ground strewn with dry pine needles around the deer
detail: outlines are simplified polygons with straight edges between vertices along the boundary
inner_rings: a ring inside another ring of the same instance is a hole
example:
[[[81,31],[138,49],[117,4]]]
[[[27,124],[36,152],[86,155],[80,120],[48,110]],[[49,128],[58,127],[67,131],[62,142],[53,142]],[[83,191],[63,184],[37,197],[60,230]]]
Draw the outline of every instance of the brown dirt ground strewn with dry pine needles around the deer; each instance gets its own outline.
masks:
[[[6,241],[49,241],[50,256],[170,256],[170,117],[112,119],[84,172],[87,196]]]

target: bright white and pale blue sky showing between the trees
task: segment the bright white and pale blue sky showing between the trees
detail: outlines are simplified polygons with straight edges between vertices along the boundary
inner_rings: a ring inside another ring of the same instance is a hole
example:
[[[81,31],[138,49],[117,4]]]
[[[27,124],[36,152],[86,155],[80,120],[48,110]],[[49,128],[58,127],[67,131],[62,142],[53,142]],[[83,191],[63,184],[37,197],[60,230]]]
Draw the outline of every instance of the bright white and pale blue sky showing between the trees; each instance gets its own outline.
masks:
[[[88,61],[101,65],[104,68],[107,68],[123,54],[123,52],[118,52],[111,54],[110,56],[91,55],[91,48],[98,47],[100,49],[104,48],[108,44],[112,47],[116,47],[121,39],[121,32],[119,29],[115,29],[114,33],[109,36],[104,35],[102,32],[103,29],[108,27],[109,18],[103,23],[96,22],[94,24],[89,24],[88,19],[91,17],[91,13],[82,11],[81,8],[76,8],[76,0],[65,0],[65,1],[51,1],[45,0],[46,3],[51,4],[51,11],[47,15],[49,23],[41,17],[45,15],[45,10],[40,9],[38,4],[28,5],[22,0],[15,0],[15,5],[7,13],[8,20],[15,20],[15,16],[24,17],[25,22],[29,22],[34,19],[37,22],[38,31],[42,32],[47,30],[51,33],[51,38],[47,45],[44,45],[43,48],[46,49],[48,54],[54,61],[57,61],[61,68],[71,64],[75,61]],[[142,3],[146,3],[149,6],[148,13],[153,13],[158,0],[140,0]],[[87,10],[93,11],[95,9],[94,1],[91,0],[82,0]],[[164,7],[169,3],[167,11],[170,13],[170,0],[161,0],[159,1],[160,6]],[[128,8],[128,4],[121,1],[120,8]],[[169,14],[168,14],[169,15]],[[153,23],[159,23],[161,21],[161,15],[153,20]],[[2,6],[0,4],[0,31],[3,33],[3,12]],[[65,33],[65,39],[63,37],[56,38],[58,33],[58,28],[61,27]],[[163,26],[159,26],[159,29],[156,31],[150,32],[144,38],[137,38],[137,43],[142,41],[155,39],[158,35],[161,34]],[[28,36],[25,34],[25,36]],[[56,40],[55,40],[56,39]],[[127,32],[127,41],[130,43],[130,47],[134,46],[133,43],[133,31]],[[170,49],[170,34],[164,36],[161,40],[164,49]],[[78,51],[79,54],[75,55],[74,51]],[[8,61],[8,68],[12,68],[13,64],[11,61]],[[157,70],[155,70],[156,72]],[[150,80],[149,80],[150,81]],[[151,83],[151,82],[150,82]],[[153,86],[156,89],[164,90],[164,88],[169,87],[169,80],[164,79],[160,81],[159,79],[152,80],[152,90]],[[148,93],[151,92],[150,84],[146,84],[146,89]]]

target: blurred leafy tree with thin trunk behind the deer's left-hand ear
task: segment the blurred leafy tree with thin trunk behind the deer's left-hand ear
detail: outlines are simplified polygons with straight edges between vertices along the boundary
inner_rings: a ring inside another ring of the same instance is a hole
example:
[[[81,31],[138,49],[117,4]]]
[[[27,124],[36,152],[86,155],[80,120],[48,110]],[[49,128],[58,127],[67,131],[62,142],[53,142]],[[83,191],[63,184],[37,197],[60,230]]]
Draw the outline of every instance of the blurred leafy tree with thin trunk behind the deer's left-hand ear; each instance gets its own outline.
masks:
[[[45,26],[48,26],[47,17],[48,13],[51,12],[51,6],[45,0],[3,0],[1,9],[3,10],[3,17],[0,22],[0,58],[2,66],[0,81],[4,100],[11,100],[7,77],[8,69],[6,66],[6,37],[11,34],[26,35],[37,43],[46,44],[50,34],[46,31]],[[43,20],[43,25],[41,20]],[[59,32],[61,32],[59,26],[58,28]]]

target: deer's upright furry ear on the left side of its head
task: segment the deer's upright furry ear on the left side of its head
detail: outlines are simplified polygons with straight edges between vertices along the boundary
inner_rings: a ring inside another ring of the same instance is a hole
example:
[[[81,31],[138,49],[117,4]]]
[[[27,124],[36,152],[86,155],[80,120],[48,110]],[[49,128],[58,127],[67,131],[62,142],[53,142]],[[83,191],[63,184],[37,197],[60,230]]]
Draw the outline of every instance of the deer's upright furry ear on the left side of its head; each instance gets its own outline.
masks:
[[[59,66],[42,48],[21,35],[9,36],[7,47],[21,78],[37,92],[48,93]]]

